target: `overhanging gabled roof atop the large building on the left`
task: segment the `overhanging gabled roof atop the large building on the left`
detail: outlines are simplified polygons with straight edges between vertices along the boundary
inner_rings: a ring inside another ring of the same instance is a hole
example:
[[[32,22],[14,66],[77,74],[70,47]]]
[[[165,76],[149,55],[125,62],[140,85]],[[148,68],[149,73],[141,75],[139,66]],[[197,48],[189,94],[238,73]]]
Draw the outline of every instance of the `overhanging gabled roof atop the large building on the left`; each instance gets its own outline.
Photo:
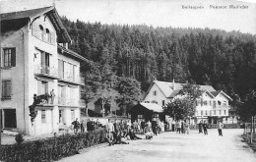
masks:
[[[3,13],[0,14],[0,20],[1,24],[10,24],[10,22],[17,22],[19,20],[31,20],[32,23],[35,19],[44,14],[48,16],[49,20],[55,27],[58,35],[58,42],[71,42],[70,35],[68,34],[66,28],[63,26],[60,16],[53,6],[20,12]]]

